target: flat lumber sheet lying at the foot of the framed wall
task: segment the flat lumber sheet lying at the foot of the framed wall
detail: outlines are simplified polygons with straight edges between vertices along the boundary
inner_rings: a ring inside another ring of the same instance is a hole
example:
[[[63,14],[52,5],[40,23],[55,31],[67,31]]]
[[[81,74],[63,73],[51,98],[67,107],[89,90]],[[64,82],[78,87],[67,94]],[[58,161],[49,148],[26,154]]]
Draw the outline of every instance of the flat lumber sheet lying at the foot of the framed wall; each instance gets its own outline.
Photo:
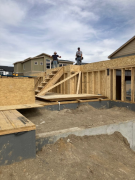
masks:
[[[96,98],[106,98],[102,95],[95,94],[62,94],[62,95],[50,95],[50,96],[38,96],[40,99],[46,101],[63,101],[63,100],[76,100],[76,99],[96,99]]]

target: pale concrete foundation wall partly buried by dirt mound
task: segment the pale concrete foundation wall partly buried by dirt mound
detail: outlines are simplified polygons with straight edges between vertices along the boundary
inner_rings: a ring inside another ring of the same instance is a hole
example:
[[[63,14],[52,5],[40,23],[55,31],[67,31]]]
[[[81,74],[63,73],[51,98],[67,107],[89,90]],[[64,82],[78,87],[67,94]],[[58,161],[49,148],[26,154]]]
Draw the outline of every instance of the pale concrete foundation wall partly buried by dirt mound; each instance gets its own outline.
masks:
[[[58,139],[67,137],[70,134],[74,134],[76,136],[93,136],[101,134],[109,135],[113,134],[115,131],[120,132],[128,140],[131,149],[135,151],[135,120],[88,129],[75,127],[60,131],[38,134],[36,138],[36,151],[40,151],[43,146],[47,144],[53,144]]]

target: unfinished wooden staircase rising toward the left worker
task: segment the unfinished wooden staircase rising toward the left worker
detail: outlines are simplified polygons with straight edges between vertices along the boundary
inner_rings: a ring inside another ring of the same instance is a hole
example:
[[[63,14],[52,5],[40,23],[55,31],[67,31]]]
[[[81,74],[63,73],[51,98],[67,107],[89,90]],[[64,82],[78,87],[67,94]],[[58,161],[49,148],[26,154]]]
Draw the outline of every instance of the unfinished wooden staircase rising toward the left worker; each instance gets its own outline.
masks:
[[[45,77],[44,81],[42,81],[37,89],[35,90],[35,95],[36,97],[38,95],[43,95],[44,91],[53,86],[58,80],[59,78],[63,75],[63,67],[61,67],[58,70],[52,70],[51,74],[49,74],[48,76]]]

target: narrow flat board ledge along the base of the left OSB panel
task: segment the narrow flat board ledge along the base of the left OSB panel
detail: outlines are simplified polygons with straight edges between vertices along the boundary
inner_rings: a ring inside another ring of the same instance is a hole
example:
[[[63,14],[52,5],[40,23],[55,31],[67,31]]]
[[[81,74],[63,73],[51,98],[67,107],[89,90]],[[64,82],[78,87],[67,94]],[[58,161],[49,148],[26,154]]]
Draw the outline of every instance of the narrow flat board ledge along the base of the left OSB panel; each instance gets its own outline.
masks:
[[[10,106],[0,106],[0,111],[13,110],[13,109],[29,109],[43,107],[42,104],[20,104],[20,105],[10,105]]]

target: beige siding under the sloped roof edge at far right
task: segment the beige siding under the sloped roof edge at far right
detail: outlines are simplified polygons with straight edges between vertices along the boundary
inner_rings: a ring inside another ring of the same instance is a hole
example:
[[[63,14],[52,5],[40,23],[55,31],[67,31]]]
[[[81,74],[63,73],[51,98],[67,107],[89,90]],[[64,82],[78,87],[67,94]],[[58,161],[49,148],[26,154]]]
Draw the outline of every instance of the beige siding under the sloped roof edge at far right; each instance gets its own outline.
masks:
[[[126,45],[124,48],[122,48],[120,51],[118,51],[116,54],[114,54],[111,58],[130,55],[134,53],[135,53],[135,39],[131,41],[128,45]]]

